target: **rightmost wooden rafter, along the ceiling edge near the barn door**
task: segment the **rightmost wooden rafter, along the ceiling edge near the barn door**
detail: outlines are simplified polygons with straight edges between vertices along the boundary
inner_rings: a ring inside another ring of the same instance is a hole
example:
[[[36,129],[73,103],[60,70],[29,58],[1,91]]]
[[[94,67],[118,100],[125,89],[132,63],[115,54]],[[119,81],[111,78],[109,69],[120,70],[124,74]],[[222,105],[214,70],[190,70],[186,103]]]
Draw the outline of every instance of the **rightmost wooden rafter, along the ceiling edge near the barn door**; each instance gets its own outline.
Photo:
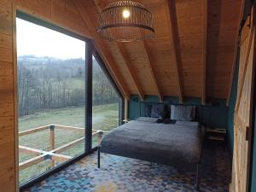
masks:
[[[240,15],[239,15],[238,23],[237,23],[237,28],[236,28],[236,44],[235,44],[235,49],[234,49],[235,53],[234,53],[233,61],[232,61],[232,68],[231,68],[231,74],[230,74],[230,84],[229,84],[229,90],[228,90],[229,95],[227,97],[226,106],[230,105],[230,96],[231,96],[232,84],[233,84],[235,67],[236,67],[236,56],[237,56],[237,49],[238,49],[238,44],[239,44],[239,34],[240,34],[240,30],[241,30],[241,20],[242,20],[242,17],[243,17],[244,6],[245,6],[245,0],[241,0]]]

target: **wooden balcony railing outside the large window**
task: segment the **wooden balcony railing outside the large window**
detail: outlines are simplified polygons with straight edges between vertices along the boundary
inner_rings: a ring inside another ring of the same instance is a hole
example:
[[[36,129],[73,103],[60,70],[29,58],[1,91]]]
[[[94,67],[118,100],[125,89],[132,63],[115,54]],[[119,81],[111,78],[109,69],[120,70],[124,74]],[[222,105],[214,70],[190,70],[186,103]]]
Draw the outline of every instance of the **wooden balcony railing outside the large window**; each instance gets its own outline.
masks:
[[[39,131],[45,131],[49,130],[49,144],[50,144],[50,150],[45,151],[38,148],[31,148],[19,145],[19,151],[24,154],[32,154],[35,155],[35,157],[25,160],[23,162],[19,163],[19,170],[24,170],[30,166],[36,165],[40,162],[43,162],[44,160],[51,160],[51,167],[55,166],[55,161],[57,162],[64,162],[66,160],[70,160],[73,158],[73,156],[68,156],[65,154],[61,154],[64,151],[67,151],[67,149],[74,147],[75,145],[82,143],[85,139],[85,137],[80,137],[79,139],[74,140],[73,142],[67,143],[65,145],[62,145],[61,147],[55,148],[55,130],[61,130],[61,131],[78,131],[81,133],[84,133],[84,128],[81,127],[73,127],[73,126],[64,126],[64,125],[45,125],[38,128],[34,128],[27,131],[20,131],[19,137],[24,137],[27,135],[30,135],[32,133],[36,133]],[[98,142],[101,141],[104,131],[99,130],[93,130],[92,131],[92,137],[98,137]]]

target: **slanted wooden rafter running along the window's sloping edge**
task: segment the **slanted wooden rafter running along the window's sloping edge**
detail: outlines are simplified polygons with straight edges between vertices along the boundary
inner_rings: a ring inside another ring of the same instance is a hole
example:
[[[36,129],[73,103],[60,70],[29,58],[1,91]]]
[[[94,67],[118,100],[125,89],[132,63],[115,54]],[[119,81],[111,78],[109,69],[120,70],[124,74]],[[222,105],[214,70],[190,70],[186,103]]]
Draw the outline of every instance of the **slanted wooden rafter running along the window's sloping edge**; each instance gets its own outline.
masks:
[[[73,0],[73,2],[74,2],[76,8],[79,11],[79,14],[82,16],[82,18],[84,20],[84,24],[86,26],[88,26],[91,35],[94,37],[93,43],[95,44],[96,49],[98,50],[99,54],[102,56],[102,60],[105,61],[106,65],[108,67],[109,72],[113,75],[113,79],[118,84],[118,87],[121,90],[123,96],[127,100],[129,100],[130,99],[130,94],[128,92],[127,86],[125,84],[124,79],[122,79],[121,76],[117,75],[118,74],[118,69],[116,67],[116,63],[113,60],[113,57],[112,57],[111,53],[106,48],[106,46],[105,46],[104,42],[102,41],[102,39],[98,38],[96,29],[93,26],[92,22],[90,21],[90,17],[86,14],[84,9],[80,5],[79,0]]]

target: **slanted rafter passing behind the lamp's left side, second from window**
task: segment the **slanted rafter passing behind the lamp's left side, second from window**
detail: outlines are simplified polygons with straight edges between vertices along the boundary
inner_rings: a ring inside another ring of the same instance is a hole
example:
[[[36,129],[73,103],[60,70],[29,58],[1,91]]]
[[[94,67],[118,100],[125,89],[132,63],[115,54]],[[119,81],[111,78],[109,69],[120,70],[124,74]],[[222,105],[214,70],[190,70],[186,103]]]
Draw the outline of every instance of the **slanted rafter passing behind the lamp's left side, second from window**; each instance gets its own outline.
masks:
[[[94,0],[94,3],[96,4],[96,8],[97,8],[98,12],[101,13],[102,7],[101,7],[100,3],[98,2],[98,0]],[[145,95],[143,93],[142,86],[137,79],[136,71],[134,70],[133,67],[131,67],[131,61],[130,61],[129,57],[127,56],[127,53],[125,52],[125,47],[123,45],[124,43],[113,42],[113,44],[116,45],[119,55],[121,55],[125,61],[125,67],[127,68],[127,71],[129,73],[129,75],[131,76],[133,83],[136,86],[138,96],[140,96],[141,101],[144,101]]]

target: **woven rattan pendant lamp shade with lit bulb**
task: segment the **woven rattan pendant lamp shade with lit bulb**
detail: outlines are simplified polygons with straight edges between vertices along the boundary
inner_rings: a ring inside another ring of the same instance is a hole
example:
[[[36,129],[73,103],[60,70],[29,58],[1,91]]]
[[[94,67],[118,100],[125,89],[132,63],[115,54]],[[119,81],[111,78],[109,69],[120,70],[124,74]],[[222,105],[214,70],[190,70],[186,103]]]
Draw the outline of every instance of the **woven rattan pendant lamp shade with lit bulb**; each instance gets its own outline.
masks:
[[[141,41],[154,35],[154,21],[142,3],[118,1],[102,10],[97,32],[109,41]]]

